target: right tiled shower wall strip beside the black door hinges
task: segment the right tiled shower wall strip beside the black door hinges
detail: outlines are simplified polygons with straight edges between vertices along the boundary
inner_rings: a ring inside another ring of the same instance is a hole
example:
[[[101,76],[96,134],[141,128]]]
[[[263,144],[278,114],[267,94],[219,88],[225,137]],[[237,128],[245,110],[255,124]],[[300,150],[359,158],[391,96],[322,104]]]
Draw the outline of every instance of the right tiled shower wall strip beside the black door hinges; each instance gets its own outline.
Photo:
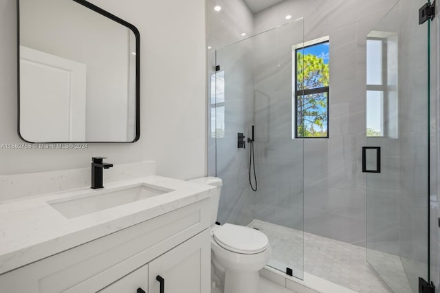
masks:
[[[428,279],[428,24],[417,23],[424,1],[402,1],[399,21],[399,256],[413,292]]]

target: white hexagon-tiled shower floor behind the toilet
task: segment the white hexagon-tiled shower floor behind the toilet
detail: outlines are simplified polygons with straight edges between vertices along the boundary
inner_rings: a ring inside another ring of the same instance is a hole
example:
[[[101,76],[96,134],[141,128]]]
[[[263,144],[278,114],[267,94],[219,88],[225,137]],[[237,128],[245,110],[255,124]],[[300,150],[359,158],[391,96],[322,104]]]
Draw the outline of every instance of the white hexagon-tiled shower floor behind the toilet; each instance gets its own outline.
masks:
[[[289,266],[303,269],[303,232],[254,219],[248,226],[258,228],[267,235],[272,246],[269,265],[289,263]],[[397,293],[410,293],[399,257],[377,252],[382,269],[388,272],[388,282],[393,281]],[[379,279],[366,262],[366,249],[353,244],[336,241],[304,232],[304,270],[322,279],[348,287],[360,293],[392,292]],[[295,275],[295,270],[294,270]]]

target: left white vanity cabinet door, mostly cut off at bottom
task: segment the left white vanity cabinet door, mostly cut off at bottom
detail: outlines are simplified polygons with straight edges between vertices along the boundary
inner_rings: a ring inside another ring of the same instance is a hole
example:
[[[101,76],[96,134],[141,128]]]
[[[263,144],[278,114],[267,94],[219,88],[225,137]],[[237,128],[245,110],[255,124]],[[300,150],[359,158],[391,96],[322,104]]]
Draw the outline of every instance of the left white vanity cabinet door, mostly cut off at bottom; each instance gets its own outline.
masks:
[[[98,291],[99,293],[142,293],[148,292],[148,265],[127,274],[122,279]]]

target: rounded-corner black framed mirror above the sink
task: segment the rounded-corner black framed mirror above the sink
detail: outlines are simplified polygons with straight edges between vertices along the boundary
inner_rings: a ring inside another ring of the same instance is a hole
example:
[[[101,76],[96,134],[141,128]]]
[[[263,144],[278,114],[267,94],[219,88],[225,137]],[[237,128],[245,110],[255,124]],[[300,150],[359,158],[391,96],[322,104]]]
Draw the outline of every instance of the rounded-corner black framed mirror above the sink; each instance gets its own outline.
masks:
[[[18,132],[27,142],[136,142],[140,33],[85,0],[17,0]]]

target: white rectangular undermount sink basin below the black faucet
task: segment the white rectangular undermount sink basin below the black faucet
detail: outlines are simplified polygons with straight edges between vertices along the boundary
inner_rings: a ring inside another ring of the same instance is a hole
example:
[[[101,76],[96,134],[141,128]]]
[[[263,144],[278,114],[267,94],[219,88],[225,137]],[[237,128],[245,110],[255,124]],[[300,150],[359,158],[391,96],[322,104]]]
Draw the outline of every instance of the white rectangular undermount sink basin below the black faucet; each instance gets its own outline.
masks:
[[[79,217],[115,206],[122,206],[138,200],[163,195],[173,190],[146,184],[114,188],[113,190],[95,190],[90,193],[47,202],[67,218]]]

